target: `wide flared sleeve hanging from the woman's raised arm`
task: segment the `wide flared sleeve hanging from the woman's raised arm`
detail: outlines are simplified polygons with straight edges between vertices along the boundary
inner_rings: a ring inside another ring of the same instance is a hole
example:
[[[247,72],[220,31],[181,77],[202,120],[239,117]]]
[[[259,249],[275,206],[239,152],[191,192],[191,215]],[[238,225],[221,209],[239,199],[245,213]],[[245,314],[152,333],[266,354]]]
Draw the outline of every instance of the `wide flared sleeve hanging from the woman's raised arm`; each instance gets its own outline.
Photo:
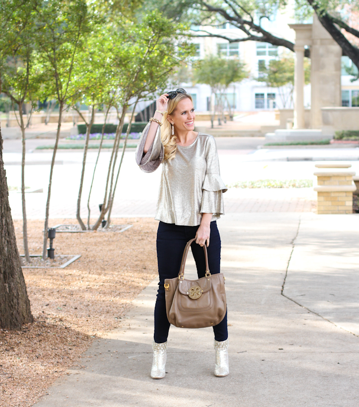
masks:
[[[143,129],[137,149],[136,149],[136,163],[143,172],[155,171],[163,161],[164,147],[161,141],[161,129],[160,126],[157,129],[155,140],[149,147],[146,154],[144,154],[144,145],[146,143],[147,134],[150,126],[150,122]]]

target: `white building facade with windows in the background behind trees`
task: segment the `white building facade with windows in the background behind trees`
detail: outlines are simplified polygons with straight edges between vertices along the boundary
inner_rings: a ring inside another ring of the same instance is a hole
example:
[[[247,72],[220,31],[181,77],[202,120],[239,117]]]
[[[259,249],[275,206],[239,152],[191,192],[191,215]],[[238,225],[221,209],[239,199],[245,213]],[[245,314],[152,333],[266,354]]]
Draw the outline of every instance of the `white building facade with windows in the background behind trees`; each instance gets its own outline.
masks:
[[[290,29],[288,23],[291,20],[292,11],[287,9],[283,12],[278,12],[275,21],[262,20],[262,27],[272,34],[286,38],[294,42],[295,33]],[[223,35],[229,38],[243,38],[245,34],[230,25],[224,24],[220,28],[214,27],[201,27],[202,29]],[[285,47],[276,47],[272,44],[256,41],[243,41],[229,43],[227,40],[217,37],[196,37],[192,42],[196,44],[197,54],[194,59],[202,59],[209,54],[221,53],[226,58],[237,57],[246,66],[249,71],[249,77],[240,83],[231,85],[228,89],[228,99],[232,101],[231,105],[234,111],[256,111],[256,110],[273,110],[276,108],[284,108],[282,99],[279,95],[278,88],[271,88],[265,82],[257,80],[259,76],[259,68],[261,64],[268,65],[271,59],[280,58],[283,53],[290,53]],[[197,111],[208,111],[209,100],[211,98],[211,89],[209,85],[182,83],[182,87],[188,93],[194,96],[195,108]],[[286,89],[281,89],[281,92],[290,93],[291,87],[287,86]],[[287,102],[286,108],[292,108],[291,98]],[[304,89],[304,105],[310,107],[311,91],[310,85],[305,86]]]

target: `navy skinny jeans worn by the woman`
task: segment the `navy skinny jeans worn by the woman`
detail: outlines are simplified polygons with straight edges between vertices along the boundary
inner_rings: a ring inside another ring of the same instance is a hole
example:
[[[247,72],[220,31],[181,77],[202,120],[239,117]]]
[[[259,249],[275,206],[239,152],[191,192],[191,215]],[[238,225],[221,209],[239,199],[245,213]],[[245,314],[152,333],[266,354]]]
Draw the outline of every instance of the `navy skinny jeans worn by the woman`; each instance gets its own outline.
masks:
[[[174,279],[178,276],[184,248],[190,239],[196,235],[198,226],[179,226],[174,223],[160,222],[157,231],[157,259],[159,266],[159,289],[155,306],[155,335],[156,343],[167,341],[170,323],[167,319],[165,300],[165,279]],[[197,267],[198,278],[206,273],[203,247],[195,242],[191,244],[192,254]],[[210,246],[208,251],[208,264],[211,274],[220,273],[221,238],[217,222],[211,222]],[[227,312],[224,319],[213,327],[216,341],[225,341],[228,338]]]

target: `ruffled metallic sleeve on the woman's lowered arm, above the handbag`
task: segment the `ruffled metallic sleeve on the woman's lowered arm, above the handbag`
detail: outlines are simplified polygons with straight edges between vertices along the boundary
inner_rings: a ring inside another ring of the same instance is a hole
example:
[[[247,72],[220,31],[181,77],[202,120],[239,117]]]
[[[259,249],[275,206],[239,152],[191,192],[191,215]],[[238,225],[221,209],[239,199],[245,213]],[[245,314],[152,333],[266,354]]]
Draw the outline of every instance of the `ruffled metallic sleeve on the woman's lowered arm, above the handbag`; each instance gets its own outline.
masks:
[[[227,187],[219,172],[219,160],[216,141],[209,138],[206,148],[207,169],[202,184],[202,201],[200,213],[213,213],[214,216],[224,214],[223,193]]]

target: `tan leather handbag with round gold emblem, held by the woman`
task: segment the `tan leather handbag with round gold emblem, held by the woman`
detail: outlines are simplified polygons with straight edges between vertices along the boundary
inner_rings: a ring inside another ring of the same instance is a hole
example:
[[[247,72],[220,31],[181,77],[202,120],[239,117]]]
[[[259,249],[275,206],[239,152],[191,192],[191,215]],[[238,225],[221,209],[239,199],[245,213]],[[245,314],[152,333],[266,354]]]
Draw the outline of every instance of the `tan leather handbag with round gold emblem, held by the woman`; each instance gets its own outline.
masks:
[[[222,273],[211,275],[207,247],[206,276],[198,280],[184,279],[184,266],[191,239],[183,252],[178,277],[165,280],[166,311],[168,321],[179,328],[206,328],[218,325],[226,315],[227,303]]]

